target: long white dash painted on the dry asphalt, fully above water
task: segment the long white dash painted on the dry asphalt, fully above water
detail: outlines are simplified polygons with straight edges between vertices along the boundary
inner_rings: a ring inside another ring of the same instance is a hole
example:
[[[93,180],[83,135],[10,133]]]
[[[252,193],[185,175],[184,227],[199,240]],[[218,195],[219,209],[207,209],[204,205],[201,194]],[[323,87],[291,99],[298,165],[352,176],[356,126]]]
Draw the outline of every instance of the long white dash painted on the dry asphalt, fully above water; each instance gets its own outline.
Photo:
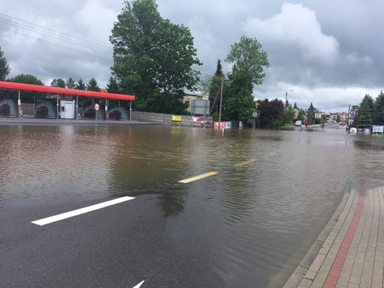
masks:
[[[62,219],[73,217],[73,216],[77,216],[77,215],[80,215],[80,214],[83,214],[83,213],[91,212],[91,211],[94,211],[94,210],[97,210],[97,209],[101,209],[101,208],[104,208],[104,207],[108,207],[108,206],[115,205],[115,204],[118,204],[118,203],[121,203],[121,202],[124,202],[124,201],[132,200],[132,199],[135,199],[135,198],[134,197],[129,197],[129,196],[124,196],[124,197],[121,197],[121,198],[117,198],[115,200],[111,200],[111,201],[95,204],[95,205],[92,205],[92,206],[80,208],[80,209],[69,211],[69,212],[66,212],[66,213],[50,216],[50,217],[47,217],[47,218],[44,218],[44,219],[32,221],[32,223],[42,226],[42,225],[50,224],[50,223],[55,222],[55,221],[59,221],[59,220],[62,220]]]

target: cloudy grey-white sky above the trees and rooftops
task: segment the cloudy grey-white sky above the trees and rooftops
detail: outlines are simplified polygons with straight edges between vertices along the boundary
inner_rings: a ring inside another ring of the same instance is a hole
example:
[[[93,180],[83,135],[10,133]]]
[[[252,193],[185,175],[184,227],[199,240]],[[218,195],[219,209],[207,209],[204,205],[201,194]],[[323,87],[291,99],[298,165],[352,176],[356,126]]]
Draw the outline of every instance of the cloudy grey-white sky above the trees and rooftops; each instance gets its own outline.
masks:
[[[157,0],[163,18],[194,36],[202,78],[214,74],[230,45],[256,38],[270,67],[255,99],[279,98],[325,112],[347,112],[384,90],[384,2],[373,0]],[[113,65],[109,42],[122,0],[2,0],[0,47],[11,73],[105,87]],[[230,65],[222,62],[224,73]],[[290,91],[293,90],[293,91]]]

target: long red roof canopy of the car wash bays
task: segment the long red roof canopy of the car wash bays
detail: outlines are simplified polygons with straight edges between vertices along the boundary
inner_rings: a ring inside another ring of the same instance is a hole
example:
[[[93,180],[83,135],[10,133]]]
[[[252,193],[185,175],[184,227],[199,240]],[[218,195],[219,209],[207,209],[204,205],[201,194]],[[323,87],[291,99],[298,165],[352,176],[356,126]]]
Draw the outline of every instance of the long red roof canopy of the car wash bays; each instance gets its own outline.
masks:
[[[17,82],[10,82],[10,81],[0,81],[0,89],[1,88],[13,89],[13,90],[47,92],[51,94],[68,94],[68,95],[76,95],[76,96],[98,97],[98,98],[108,98],[108,99],[118,99],[118,100],[135,100],[135,96],[133,95],[95,92],[95,91],[88,91],[88,90],[78,90],[78,89],[70,89],[70,88],[44,86],[44,85],[25,84],[25,83],[17,83]]]

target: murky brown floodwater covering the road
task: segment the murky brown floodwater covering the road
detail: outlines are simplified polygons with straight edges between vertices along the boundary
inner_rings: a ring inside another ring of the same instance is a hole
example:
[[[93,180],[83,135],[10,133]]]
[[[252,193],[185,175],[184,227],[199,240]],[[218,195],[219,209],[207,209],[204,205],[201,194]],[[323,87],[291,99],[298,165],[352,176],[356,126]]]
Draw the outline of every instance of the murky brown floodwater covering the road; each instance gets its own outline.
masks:
[[[0,151],[0,209],[158,194],[164,233],[193,241],[228,287],[283,286],[345,192],[384,164],[382,137],[344,129],[0,126]]]

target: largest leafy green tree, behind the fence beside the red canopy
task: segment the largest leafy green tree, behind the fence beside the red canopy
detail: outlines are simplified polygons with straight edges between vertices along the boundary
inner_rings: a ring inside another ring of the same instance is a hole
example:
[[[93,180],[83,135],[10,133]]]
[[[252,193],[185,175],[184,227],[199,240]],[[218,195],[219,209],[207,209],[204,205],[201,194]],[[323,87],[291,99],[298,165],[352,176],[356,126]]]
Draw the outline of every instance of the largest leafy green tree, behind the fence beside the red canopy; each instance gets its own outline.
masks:
[[[135,108],[170,113],[185,109],[184,89],[195,90],[200,65],[193,37],[183,25],[163,19],[154,0],[125,1],[110,41],[112,71],[126,94],[134,94]]]

